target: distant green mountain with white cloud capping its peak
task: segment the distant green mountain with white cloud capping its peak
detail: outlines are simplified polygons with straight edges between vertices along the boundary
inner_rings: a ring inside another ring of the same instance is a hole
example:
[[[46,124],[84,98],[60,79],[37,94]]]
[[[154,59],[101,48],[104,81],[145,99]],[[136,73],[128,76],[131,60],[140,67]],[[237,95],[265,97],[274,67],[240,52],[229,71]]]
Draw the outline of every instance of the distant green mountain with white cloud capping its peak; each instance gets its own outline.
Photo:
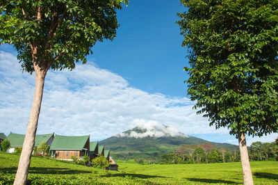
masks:
[[[181,146],[204,143],[210,143],[217,150],[238,150],[237,145],[209,142],[188,136],[163,124],[156,127],[135,127],[99,142],[111,150],[111,155],[117,159],[158,159],[162,154],[174,152]]]

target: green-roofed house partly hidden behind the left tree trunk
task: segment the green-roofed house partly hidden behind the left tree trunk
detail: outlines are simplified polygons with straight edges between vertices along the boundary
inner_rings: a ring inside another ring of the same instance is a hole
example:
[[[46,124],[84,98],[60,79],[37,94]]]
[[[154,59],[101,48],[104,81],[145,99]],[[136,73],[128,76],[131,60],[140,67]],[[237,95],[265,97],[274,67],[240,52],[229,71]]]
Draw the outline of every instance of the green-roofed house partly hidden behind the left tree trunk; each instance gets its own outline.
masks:
[[[25,135],[24,134],[15,134],[10,133],[5,140],[10,141],[10,148],[7,150],[9,153],[15,152],[15,150],[19,147],[22,147],[24,142]],[[53,134],[38,134],[35,135],[35,145],[34,147],[40,146],[40,143],[45,142],[47,145],[51,145],[52,141],[54,140],[54,133]]]

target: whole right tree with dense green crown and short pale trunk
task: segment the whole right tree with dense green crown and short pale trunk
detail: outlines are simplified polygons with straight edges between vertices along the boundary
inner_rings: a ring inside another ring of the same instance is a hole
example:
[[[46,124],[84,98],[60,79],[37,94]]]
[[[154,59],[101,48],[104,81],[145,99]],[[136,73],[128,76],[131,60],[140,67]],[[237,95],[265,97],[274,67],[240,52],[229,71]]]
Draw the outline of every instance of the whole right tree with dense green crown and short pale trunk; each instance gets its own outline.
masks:
[[[181,0],[188,95],[197,113],[238,138],[245,184],[253,184],[245,135],[278,131],[278,1]]]

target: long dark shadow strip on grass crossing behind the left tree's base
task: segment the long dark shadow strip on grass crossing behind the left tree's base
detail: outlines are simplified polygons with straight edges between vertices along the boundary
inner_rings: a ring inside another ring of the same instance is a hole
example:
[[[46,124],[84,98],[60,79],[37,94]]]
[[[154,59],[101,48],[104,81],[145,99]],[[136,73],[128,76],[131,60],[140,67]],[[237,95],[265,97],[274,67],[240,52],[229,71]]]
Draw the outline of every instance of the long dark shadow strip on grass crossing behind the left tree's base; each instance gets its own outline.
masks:
[[[8,172],[15,174],[17,168],[0,168],[1,172]],[[72,170],[70,168],[29,168],[29,174],[81,174],[81,173],[91,173],[91,171],[86,170]]]

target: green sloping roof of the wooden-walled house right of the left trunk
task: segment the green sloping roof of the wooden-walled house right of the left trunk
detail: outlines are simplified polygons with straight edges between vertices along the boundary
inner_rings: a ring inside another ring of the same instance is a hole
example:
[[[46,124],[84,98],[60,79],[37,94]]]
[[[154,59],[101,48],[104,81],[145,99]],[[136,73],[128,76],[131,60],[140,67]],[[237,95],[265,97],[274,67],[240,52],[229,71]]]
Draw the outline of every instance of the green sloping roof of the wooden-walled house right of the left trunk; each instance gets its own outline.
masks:
[[[55,136],[50,150],[78,150],[81,151],[85,147],[90,136]]]

